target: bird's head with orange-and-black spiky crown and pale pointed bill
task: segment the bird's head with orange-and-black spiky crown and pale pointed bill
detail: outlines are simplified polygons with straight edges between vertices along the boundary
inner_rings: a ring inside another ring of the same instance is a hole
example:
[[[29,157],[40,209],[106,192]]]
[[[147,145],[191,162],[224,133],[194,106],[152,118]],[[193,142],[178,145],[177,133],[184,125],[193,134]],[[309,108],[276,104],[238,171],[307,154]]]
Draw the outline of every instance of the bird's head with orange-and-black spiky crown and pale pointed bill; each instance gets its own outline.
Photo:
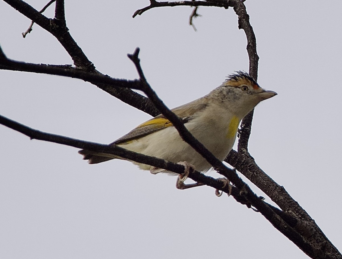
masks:
[[[213,98],[225,103],[227,109],[243,118],[262,100],[277,95],[276,92],[264,90],[246,72],[236,71],[227,77],[222,85],[211,93]]]

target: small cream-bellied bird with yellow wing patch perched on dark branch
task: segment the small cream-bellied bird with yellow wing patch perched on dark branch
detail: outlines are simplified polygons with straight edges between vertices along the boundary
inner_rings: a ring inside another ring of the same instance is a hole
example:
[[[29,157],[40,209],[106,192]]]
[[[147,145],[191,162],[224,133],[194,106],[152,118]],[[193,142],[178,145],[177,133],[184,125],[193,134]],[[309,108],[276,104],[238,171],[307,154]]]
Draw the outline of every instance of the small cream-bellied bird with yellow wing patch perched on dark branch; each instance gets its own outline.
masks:
[[[261,88],[246,72],[238,71],[206,96],[172,111],[183,120],[188,131],[216,158],[223,161],[233,148],[240,121],[262,100],[277,93]],[[109,145],[117,145],[137,153],[155,156],[174,163],[186,162],[197,171],[207,172],[211,165],[179,135],[172,123],[162,114],[150,119]],[[111,159],[123,159],[106,153],[80,150],[89,164]],[[165,171],[136,163],[151,173]],[[169,172],[171,173],[171,172]]]

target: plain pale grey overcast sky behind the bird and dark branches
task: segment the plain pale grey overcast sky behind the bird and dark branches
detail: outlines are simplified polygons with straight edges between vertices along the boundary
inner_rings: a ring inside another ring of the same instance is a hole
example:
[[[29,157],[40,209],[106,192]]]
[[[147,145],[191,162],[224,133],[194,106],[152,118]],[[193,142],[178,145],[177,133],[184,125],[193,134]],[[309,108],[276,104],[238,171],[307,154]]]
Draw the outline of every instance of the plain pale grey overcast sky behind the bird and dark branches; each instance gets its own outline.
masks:
[[[48,0],[28,2],[40,10]],[[67,26],[114,78],[137,77],[126,54],[139,46],[145,76],[169,108],[248,71],[233,9],[200,7],[195,32],[189,7],[132,18],[148,4],[66,1]],[[278,93],[255,109],[249,151],[341,251],[342,1],[245,4],[258,82]],[[54,5],[44,14],[53,17]],[[72,64],[39,26],[23,39],[29,24],[0,1],[0,44],[9,58]],[[81,80],[3,70],[0,78],[0,114],[41,131],[109,143],[150,118]],[[308,258],[262,215],[206,186],[177,190],[176,177],[127,161],[88,165],[75,148],[2,125],[0,158],[0,258]]]

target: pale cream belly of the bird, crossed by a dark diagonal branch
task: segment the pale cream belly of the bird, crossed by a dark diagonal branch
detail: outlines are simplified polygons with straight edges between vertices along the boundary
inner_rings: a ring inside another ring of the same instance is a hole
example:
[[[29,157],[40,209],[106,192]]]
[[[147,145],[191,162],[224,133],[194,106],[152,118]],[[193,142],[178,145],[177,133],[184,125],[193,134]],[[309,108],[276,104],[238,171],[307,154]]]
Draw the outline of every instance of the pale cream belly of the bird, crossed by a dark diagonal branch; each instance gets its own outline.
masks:
[[[215,125],[211,125],[210,127],[207,125],[202,128],[192,128],[191,125],[187,126],[194,137],[209,149],[220,161],[223,161],[226,158],[234,145],[236,134],[234,137],[228,137],[227,129],[220,129],[215,127]],[[203,128],[205,128],[205,130],[203,130]],[[206,172],[211,168],[211,165],[199,153],[182,140],[177,130],[172,126],[142,137],[139,140],[132,141],[129,144],[119,146],[174,163],[186,161],[194,165],[195,169],[200,172]],[[141,169],[150,169],[149,165],[137,164]]]

